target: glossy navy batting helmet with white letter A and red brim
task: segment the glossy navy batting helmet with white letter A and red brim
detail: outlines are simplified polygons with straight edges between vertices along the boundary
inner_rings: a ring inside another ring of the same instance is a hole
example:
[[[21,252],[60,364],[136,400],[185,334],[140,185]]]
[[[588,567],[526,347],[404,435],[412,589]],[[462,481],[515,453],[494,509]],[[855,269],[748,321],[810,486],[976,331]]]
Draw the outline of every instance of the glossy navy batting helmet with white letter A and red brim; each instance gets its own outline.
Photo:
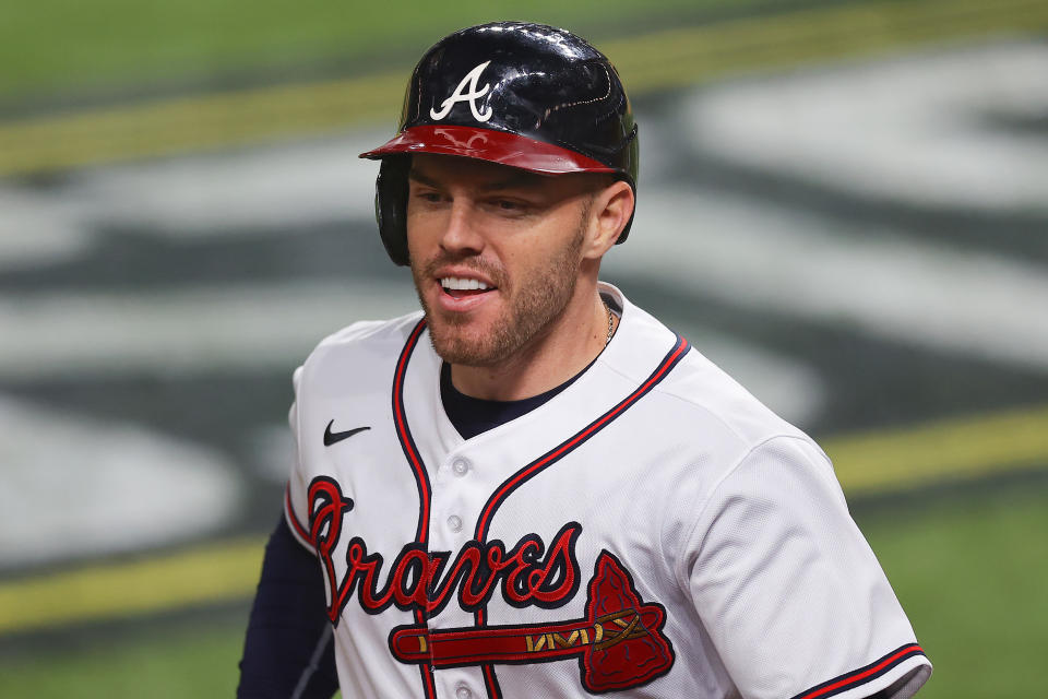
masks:
[[[408,262],[412,153],[545,175],[610,173],[636,192],[636,125],[615,67],[584,39],[544,24],[495,22],[441,39],[412,73],[396,137],[360,154],[382,161],[374,212],[397,264]]]

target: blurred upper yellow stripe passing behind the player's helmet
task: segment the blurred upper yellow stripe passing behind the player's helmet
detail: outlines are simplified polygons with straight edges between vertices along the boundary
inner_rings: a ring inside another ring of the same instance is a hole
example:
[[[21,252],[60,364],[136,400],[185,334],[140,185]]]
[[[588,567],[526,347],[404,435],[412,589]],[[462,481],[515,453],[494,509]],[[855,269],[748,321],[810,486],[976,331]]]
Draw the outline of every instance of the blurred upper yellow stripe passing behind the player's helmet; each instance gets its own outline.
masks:
[[[827,4],[602,43],[633,95],[903,45],[1048,29],[1044,0]],[[395,120],[407,69],[0,121],[0,176],[335,133]]]

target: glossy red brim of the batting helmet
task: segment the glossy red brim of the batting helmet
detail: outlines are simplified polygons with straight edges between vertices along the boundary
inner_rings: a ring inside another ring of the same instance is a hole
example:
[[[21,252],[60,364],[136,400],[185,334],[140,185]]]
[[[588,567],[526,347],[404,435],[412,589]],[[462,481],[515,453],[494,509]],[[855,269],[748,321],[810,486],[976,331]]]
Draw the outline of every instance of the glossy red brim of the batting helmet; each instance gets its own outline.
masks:
[[[450,125],[410,127],[373,151],[361,153],[360,157],[381,159],[388,155],[412,153],[469,157],[545,175],[617,171],[592,157],[545,141],[505,131]]]

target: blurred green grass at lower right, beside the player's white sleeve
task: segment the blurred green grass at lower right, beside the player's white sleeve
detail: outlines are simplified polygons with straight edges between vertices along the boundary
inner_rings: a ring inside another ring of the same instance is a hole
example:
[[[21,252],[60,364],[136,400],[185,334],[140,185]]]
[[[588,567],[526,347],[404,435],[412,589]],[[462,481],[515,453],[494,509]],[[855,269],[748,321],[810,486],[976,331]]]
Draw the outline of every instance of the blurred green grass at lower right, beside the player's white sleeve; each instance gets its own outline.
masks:
[[[986,485],[858,518],[936,665],[921,699],[1045,692],[1048,489]]]

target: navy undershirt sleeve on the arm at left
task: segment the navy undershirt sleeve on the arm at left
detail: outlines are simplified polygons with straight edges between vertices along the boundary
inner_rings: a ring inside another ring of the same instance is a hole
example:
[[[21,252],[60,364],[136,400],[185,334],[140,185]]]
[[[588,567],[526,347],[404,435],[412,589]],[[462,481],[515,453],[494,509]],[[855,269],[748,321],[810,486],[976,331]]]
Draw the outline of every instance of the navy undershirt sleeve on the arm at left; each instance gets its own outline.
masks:
[[[282,517],[265,547],[240,661],[238,699],[331,699],[338,689],[317,557]]]

